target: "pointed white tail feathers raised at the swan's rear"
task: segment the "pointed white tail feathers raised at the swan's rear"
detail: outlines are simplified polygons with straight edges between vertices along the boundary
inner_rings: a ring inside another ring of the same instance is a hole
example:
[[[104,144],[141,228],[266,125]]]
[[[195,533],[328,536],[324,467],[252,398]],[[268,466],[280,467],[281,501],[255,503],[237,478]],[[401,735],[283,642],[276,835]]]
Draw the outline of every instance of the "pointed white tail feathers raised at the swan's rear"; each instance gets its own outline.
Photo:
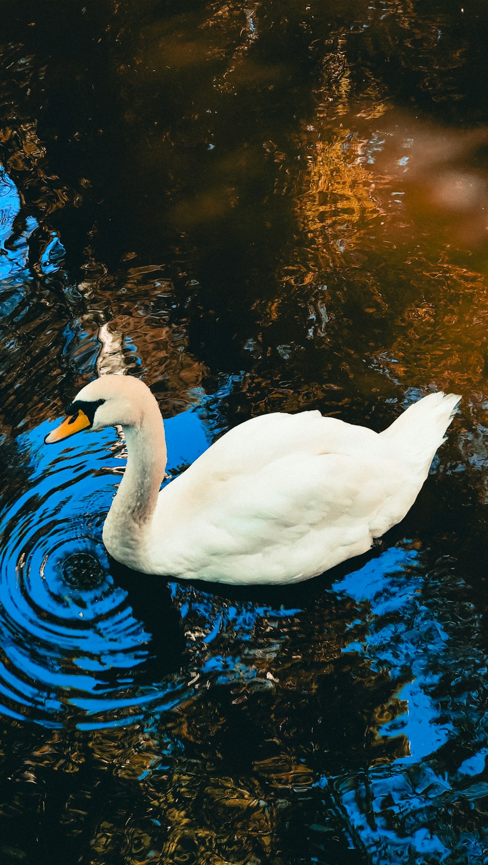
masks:
[[[460,399],[457,394],[429,394],[409,406],[381,435],[392,444],[395,440],[405,457],[423,465],[427,474]]]

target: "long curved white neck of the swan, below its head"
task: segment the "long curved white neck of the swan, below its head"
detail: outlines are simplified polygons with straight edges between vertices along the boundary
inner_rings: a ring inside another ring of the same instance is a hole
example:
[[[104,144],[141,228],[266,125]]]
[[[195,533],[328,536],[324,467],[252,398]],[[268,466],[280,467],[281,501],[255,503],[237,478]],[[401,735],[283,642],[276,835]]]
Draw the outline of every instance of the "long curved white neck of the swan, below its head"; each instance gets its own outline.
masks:
[[[115,559],[120,561],[123,551],[129,564],[133,553],[132,567],[137,567],[166,468],[163,418],[156,400],[144,407],[140,424],[124,427],[124,435],[127,465],[106,517],[103,538]]]

